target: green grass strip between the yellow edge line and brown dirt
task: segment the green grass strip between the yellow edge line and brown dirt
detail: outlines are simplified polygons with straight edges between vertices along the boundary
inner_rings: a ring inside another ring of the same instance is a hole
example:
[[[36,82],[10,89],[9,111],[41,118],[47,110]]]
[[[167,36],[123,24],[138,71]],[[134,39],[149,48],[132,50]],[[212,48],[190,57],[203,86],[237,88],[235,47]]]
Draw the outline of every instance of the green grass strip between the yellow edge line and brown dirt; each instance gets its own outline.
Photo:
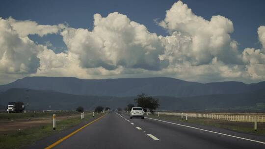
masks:
[[[100,116],[100,115],[99,115]],[[98,116],[98,117],[99,117]],[[97,117],[97,115],[96,115]],[[91,114],[85,113],[82,121],[87,121],[92,118]],[[68,118],[56,122],[56,130],[53,131],[51,124],[18,130],[15,133],[0,136],[0,149],[20,149],[29,144],[32,144],[44,137],[50,136],[53,133],[68,129],[82,122],[80,117]]]

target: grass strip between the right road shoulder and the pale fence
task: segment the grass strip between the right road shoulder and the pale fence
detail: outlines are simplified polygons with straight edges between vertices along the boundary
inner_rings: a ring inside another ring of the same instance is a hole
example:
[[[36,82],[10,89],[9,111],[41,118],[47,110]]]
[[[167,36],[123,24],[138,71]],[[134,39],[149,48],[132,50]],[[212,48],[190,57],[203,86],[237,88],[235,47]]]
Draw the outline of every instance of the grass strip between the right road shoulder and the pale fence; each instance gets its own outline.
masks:
[[[188,122],[181,120],[180,116],[172,116],[172,115],[148,115],[147,117],[154,118],[154,119],[163,119],[163,120],[172,120],[177,122],[185,122],[185,123],[192,123],[192,124],[200,124],[200,125],[209,125],[218,128],[229,129],[237,132],[243,133],[251,133],[251,134],[258,134],[258,135],[265,135],[265,123],[258,123],[257,124],[257,131],[254,130],[254,123],[251,122],[232,122],[232,121],[220,121],[220,120],[213,120],[207,118],[188,118]]]

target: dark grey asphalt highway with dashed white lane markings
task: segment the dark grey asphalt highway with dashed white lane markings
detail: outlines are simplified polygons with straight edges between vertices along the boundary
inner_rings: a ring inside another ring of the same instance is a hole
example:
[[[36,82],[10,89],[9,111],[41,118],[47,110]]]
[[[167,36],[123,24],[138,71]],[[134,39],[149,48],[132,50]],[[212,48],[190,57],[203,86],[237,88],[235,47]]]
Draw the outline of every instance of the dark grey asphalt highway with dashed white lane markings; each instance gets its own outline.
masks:
[[[186,127],[167,122],[148,118],[130,119],[125,114],[108,113],[53,149],[265,149],[263,136],[174,122],[191,126]]]

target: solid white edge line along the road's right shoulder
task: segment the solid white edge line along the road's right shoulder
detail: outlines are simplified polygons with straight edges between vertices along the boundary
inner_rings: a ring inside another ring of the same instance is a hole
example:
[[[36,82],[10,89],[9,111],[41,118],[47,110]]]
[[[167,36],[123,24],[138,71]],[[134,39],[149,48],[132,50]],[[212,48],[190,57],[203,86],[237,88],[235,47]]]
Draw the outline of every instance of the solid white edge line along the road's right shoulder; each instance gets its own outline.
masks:
[[[158,120],[158,119],[153,119],[153,118],[148,118],[148,117],[146,117],[146,118],[147,118],[147,119],[156,120],[156,121],[160,121],[160,122],[169,123],[169,124],[176,124],[176,123],[167,122],[167,121],[162,121],[162,120]],[[216,134],[220,134],[220,135],[224,135],[224,136],[229,136],[229,137],[234,137],[234,138],[238,138],[238,139],[243,139],[243,140],[248,140],[248,141],[252,141],[252,142],[257,142],[257,143],[265,144],[265,142],[262,142],[262,141],[257,141],[257,140],[252,140],[252,139],[241,138],[241,137],[237,137],[237,136],[233,136],[233,135],[229,135],[229,134],[224,134],[224,133],[215,132],[215,131],[211,131],[211,130],[205,130],[205,129],[196,128],[196,127],[192,127],[192,126],[187,126],[187,125],[183,125],[183,124],[176,124],[176,125],[180,125],[180,126],[184,126],[184,127],[188,127],[188,128],[193,128],[193,129],[197,129],[197,130],[202,130],[202,131],[212,132],[212,133],[216,133]]]

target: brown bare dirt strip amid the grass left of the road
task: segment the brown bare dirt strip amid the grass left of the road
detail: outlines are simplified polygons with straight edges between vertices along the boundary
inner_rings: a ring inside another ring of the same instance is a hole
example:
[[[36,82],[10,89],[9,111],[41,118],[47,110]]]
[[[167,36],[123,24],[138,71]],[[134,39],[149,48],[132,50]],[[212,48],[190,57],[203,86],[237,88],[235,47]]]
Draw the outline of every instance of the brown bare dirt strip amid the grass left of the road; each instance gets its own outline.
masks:
[[[69,118],[79,117],[79,115],[70,115],[70,116],[61,116],[56,117],[56,121],[61,121]],[[9,121],[0,121],[0,135],[6,133],[12,133],[17,130],[23,130],[26,128],[31,128],[34,126],[40,126],[45,124],[52,124],[53,119],[51,117],[46,118],[32,118],[32,119],[23,119],[23,120],[9,120]]]

